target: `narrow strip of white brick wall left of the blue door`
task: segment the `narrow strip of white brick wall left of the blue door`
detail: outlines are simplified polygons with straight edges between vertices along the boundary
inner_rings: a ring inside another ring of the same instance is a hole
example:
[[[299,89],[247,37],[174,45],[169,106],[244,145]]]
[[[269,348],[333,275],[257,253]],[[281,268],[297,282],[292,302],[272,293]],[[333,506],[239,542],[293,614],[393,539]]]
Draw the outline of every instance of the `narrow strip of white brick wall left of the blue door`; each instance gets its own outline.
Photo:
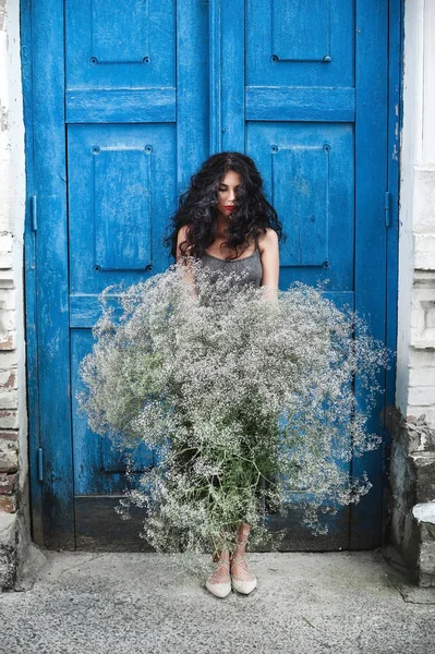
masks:
[[[20,2],[0,0],[0,474],[27,474],[23,233],[24,125],[20,58]],[[1,513],[16,509],[0,487]]]

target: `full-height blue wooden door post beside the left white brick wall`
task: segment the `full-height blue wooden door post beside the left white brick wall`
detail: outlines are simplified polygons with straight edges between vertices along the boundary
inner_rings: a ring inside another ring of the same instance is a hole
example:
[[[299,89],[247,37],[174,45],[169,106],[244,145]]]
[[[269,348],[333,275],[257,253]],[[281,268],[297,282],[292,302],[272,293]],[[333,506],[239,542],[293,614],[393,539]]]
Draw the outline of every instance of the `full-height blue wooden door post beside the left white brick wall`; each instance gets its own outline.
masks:
[[[31,519],[49,549],[75,548],[63,29],[62,0],[21,1]]]

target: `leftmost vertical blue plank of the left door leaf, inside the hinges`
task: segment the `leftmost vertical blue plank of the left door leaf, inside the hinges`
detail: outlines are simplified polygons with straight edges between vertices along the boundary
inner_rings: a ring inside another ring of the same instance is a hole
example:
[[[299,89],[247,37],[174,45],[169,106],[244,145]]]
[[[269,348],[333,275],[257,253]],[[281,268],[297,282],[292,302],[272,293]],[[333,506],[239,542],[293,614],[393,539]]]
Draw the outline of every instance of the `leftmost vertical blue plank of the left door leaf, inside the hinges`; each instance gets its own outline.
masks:
[[[39,211],[35,266],[39,429],[45,460],[43,524],[49,525],[49,529],[44,526],[44,545],[69,549],[74,548],[74,513],[63,2],[33,0],[28,9],[33,35],[34,191]]]

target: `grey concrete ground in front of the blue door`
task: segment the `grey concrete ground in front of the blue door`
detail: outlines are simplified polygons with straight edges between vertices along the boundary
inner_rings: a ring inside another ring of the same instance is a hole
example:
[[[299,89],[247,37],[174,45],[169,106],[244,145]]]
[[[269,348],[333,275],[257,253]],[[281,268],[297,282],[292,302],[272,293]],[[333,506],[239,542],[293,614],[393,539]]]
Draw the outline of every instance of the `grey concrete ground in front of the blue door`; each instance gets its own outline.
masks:
[[[0,652],[435,652],[435,589],[407,582],[380,550],[249,560],[257,589],[217,600],[162,555],[35,547],[22,590],[0,593]]]

